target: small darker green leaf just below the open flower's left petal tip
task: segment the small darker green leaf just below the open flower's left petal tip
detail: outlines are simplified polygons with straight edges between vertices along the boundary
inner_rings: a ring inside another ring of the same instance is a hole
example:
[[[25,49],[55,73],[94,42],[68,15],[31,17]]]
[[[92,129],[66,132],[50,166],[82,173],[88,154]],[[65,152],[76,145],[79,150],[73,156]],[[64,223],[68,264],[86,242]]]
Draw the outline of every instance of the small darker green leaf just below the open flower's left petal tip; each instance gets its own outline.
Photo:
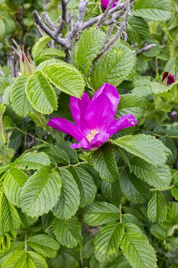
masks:
[[[69,154],[60,149],[57,145],[50,144],[49,147],[44,148],[42,151],[48,154],[51,162],[55,165],[57,162],[65,165],[70,164]]]

